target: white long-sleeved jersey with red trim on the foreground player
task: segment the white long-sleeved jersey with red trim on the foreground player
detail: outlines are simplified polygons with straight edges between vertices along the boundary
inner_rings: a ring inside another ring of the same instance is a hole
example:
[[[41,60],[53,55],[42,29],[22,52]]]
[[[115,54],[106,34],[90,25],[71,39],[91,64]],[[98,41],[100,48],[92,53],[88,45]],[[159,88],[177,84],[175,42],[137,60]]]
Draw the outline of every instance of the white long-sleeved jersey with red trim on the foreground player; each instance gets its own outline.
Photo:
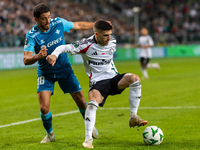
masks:
[[[116,51],[116,40],[111,37],[108,45],[99,45],[94,35],[68,45],[57,47],[52,55],[67,52],[70,55],[81,54],[85,71],[90,83],[113,78],[118,71],[113,63],[113,54]]]

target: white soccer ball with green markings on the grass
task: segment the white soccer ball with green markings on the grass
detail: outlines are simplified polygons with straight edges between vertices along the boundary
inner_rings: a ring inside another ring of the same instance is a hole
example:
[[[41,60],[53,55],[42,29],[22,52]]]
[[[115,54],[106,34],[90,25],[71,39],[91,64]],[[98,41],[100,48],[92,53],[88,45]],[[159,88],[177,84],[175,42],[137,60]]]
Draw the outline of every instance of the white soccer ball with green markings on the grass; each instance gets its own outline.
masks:
[[[143,131],[143,141],[147,145],[159,145],[163,141],[163,132],[157,126],[149,126]]]

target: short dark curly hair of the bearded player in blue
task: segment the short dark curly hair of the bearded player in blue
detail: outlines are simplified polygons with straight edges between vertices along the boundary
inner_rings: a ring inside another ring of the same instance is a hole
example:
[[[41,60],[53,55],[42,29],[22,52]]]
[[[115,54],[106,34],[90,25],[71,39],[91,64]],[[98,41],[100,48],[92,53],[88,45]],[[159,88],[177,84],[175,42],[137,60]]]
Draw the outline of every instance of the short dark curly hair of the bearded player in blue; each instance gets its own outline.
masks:
[[[49,11],[50,11],[50,8],[44,3],[42,3],[35,6],[33,10],[33,15],[34,17],[39,18],[42,13],[47,13]]]

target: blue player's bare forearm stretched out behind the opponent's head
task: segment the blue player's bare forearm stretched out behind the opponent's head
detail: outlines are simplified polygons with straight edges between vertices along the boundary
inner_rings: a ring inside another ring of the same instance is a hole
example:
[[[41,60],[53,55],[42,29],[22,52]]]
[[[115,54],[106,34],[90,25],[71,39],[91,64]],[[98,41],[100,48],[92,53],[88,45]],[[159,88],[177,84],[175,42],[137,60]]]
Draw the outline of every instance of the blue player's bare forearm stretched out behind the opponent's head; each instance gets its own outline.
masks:
[[[94,26],[93,22],[73,22],[74,27],[72,30],[87,30],[87,29],[92,29]]]

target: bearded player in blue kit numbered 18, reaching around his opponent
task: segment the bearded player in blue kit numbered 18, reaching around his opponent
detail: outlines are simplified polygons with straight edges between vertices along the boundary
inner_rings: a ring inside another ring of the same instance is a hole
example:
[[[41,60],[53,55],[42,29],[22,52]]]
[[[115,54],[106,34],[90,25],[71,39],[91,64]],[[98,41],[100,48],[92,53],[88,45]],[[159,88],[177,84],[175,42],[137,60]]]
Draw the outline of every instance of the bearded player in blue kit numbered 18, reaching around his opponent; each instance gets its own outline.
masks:
[[[83,117],[87,103],[82,88],[71,68],[67,53],[59,56],[54,67],[46,61],[46,57],[56,47],[65,44],[64,32],[69,32],[71,29],[91,29],[94,23],[69,22],[59,17],[51,19],[50,9],[45,4],[37,5],[33,13],[36,25],[26,34],[23,61],[25,65],[31,65],[38,61],[37,93],[40,103],[40,116],[47,132],[41,143],[48,143],[55,140],[50,111],[50,97],[54,92],[54,83],[58,81],[62,91],[71,94]],[[33,52],[35,52],[35,55],[33,55]],[[96,128],[94,128],[93,136],[98,137]]]

